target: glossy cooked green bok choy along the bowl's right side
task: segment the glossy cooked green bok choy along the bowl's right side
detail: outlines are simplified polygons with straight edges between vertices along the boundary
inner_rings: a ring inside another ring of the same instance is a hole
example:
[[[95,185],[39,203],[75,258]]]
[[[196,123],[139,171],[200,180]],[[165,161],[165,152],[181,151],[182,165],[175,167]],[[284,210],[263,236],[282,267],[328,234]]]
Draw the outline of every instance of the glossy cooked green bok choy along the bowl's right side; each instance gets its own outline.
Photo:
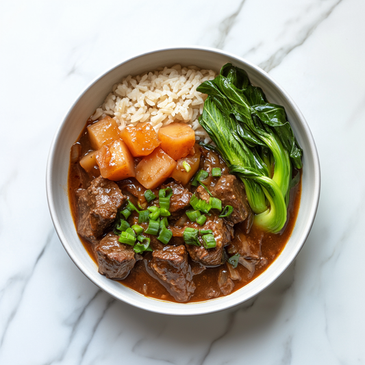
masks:
[[[197,90],[208,95],[199,123],[242,179],[255,224],[278,233],[286,223],[292,166],[302,166],[284,107],[268,103],[247,73],[231,64]]]

